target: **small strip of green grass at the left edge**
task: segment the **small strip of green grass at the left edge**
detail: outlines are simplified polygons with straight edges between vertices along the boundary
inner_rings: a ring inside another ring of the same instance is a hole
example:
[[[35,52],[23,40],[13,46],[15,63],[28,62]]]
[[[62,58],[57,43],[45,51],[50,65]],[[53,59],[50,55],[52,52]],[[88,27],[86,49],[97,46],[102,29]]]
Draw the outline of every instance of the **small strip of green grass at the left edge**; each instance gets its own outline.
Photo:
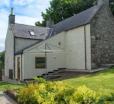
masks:
[[[0,82],[0,91],[18,89],[23,87],[23,84],[11,84],[6,82]]]

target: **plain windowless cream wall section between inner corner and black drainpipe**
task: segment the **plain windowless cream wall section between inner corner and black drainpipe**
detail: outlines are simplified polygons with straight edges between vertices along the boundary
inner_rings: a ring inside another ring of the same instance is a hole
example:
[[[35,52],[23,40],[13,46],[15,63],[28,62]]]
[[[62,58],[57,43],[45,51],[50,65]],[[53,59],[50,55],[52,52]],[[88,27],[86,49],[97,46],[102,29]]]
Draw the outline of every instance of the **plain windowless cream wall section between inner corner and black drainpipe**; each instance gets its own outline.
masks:
[[[66,34],[66,67],[85,69],[84,27],[70,30]]]

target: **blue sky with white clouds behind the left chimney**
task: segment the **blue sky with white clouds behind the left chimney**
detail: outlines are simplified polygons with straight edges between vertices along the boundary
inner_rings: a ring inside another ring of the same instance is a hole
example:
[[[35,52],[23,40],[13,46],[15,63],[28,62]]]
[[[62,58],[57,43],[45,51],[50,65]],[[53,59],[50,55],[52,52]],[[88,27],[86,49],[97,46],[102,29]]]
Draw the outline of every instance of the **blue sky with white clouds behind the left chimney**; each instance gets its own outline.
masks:
[[[0,0],[0,51],[5,49],[8,15],[14,8],[16,23],[34,25],[41,21],[41,12],[49,7],[50,0]]]

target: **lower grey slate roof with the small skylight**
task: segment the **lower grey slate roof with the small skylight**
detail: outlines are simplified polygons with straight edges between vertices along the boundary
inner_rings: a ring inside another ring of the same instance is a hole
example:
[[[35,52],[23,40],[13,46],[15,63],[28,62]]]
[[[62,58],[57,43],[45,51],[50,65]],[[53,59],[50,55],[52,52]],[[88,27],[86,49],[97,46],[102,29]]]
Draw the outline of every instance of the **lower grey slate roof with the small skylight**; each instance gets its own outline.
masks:
[[[26,38],[26,39],[45,39],[45,37],[48,35],[49,28],[46,27],[37,27],[37,26],[30,26],[30,25],[24,25],[24,24],[12,24],[13,28],[12,31],[14,33],[15,37],[18,38]],[[34,36],[30,34],[30,31],[34,32]]]

